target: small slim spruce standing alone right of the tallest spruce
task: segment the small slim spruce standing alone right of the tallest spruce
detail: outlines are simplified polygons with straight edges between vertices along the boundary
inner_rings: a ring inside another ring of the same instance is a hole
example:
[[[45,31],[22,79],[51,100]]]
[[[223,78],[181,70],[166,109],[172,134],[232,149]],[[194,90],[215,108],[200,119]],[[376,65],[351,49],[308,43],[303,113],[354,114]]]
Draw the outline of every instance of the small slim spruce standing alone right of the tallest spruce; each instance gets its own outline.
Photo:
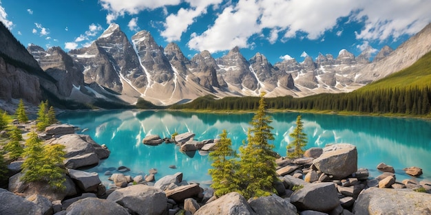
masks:
[[[293,152],[287,152],[288,158],[298,158],[304,156],[304,147],[307,144],[307,137],[306,133],[303,132],[304,125],[302,124],[301,118],[301,115],[297,116],[296,128],[291,134],[289,134],[293,138],[293,142],[288,144],[287,149],[293,148]]]

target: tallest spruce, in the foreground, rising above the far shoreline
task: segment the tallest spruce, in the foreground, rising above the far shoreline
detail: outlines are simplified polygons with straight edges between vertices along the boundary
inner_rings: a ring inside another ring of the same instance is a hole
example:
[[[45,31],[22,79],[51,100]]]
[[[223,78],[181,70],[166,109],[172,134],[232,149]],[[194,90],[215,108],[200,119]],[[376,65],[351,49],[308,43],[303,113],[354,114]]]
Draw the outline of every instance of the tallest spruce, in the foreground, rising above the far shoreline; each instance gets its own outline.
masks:
[[[247,144],[240,147],[240,193],[246,198],[269,196],[275,192],[274,181],[277,180],[275,172],[274,145],[269,141],[275,139],[269,124],[271,116],[266,113],[264,93],[260,95],[259,106],[253,120],[250,122],[247,135]]]

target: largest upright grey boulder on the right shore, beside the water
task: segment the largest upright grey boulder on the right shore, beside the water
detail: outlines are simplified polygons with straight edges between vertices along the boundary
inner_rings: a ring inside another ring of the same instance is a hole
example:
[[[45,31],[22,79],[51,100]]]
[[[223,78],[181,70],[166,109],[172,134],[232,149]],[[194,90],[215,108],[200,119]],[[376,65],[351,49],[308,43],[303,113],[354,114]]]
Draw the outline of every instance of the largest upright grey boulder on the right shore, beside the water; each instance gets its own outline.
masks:
[[[322,155],[313,161],[317,170],[343,179],[357,171],[357,149],[351,144],[326,146]]]

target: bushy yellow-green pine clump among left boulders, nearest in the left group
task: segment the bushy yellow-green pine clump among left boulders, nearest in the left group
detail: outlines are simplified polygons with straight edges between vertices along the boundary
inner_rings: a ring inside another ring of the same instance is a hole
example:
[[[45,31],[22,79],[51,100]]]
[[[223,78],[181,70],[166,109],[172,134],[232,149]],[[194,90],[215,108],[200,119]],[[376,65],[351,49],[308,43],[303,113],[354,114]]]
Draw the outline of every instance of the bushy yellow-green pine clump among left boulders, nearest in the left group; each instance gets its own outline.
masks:
[[[21,178],[25,183],[32,181],[48,182],[52,188],[65,189],[63,159],[65,156],[64,146],[54,144],[43,147],[41,139],[36,132],[32,131],[25,142],[23,156],[24,175]]]

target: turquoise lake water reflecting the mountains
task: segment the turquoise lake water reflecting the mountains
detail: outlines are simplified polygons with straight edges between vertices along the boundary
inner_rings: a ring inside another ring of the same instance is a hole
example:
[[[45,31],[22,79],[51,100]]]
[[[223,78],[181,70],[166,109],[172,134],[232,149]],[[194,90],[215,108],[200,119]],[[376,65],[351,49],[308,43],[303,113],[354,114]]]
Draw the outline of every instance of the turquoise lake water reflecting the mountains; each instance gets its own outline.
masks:
[[[272,113],[275,151],[286,155],[291,141],[289,133],[295,127],[298,113]],[[246,139],[246,131],[253,113],[213,114],[184,113],[178,111],[73,111],[57,118],[63,123],[85,129],[98,144],[106,144],[111,150],[109,158],[87,171],[98,172],[105,185],[106,170],[127,166],[127,174],[148,174],[156,168],[156,179],[167,174],[183,172],[183,179],[207,185],[211,181],[208,169],[211,161],[207,155],[185,155],[175,144],[147,146],[142,144],[146,135],[170,137],[172,133],[196,133],[195,139],[218,138],[223,129],[237,149]],[[304,132],[308,137],[306,148],[324,147],[326,144],[348,143],[357,146],[358,168],[368,168],[370,177],[380,172],[380,162],[391,165],[397,173],[397,181],[410,178],[403,168],[418,166],[423,169],[421,179],[431,179],[431,122],[427,120],[390,117],[320,115],[302,113]],[[169,166],[175,165],[176,169]],[[112,171],[116,172],[116,171]]]

